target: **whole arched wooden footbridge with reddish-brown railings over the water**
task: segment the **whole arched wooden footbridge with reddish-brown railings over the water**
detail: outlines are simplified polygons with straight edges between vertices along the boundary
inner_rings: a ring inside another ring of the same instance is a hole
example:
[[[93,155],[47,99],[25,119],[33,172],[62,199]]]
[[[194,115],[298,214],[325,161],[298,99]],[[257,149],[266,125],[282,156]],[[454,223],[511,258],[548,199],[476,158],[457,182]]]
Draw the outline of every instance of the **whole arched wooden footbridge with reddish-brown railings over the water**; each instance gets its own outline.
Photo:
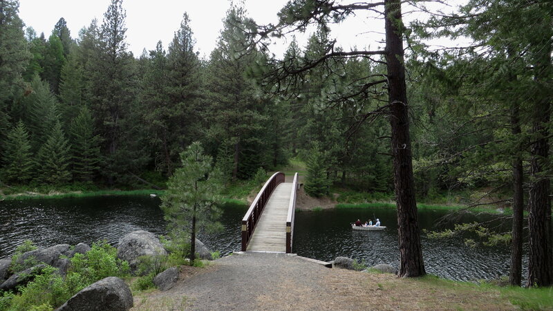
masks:
[[[274,173],[242,218],[242,252],[292,252],[298,173],[284,182]]]

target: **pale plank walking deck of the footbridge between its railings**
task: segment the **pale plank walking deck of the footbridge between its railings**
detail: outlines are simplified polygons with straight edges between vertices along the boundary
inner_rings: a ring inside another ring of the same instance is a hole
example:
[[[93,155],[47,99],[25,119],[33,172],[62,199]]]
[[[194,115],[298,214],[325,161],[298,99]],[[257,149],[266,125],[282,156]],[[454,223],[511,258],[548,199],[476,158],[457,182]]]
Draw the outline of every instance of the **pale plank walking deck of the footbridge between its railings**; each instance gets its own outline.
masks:
[[[247,245],[247,250],[286,252],[286,216],[291,191],[292,182],[283,182],[274,189]]]

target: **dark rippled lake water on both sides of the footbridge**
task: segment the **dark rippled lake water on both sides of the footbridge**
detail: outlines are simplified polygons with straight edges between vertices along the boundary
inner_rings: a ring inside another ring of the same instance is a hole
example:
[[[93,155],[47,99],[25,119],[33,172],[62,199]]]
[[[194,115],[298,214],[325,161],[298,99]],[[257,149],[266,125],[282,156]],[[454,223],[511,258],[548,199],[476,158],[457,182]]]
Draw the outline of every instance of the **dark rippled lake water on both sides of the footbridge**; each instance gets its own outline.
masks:
[[[148,196],[104,196],[0,202],[0,258],[10,256],[15,247],[30,239],[39,247],[60,243],[91,244],[106,239],[112,244],[129,232],[143,229],[165,234],[166,223],[159,198]],[[210,249],[221,254],[240,250],[241,219],[247,207],[227,205],[222,232],[200,234]],[[419,213],[422,229],[435,229],[445,211]],[[386,226],[382,232],[354,231],[349,223],[377,217]],[[493,216],[462,214],[455,222],[490,220]],[[329,209],[297,211],[293,252],[300,256],[330,261],[348,256],[367,265],[399,265],[395,209]],[[440,228],[453,227],[446,223]],[[508,225],[505,227],[508,229]],[[494,279],[509,272],[509,247],[466,247],[462,238],[432,240],[422,236],[427,272],[447,279],[468,281]],[[526,265],[524,258],[523,265]],[[523,272],[524,274],[526,272]]]

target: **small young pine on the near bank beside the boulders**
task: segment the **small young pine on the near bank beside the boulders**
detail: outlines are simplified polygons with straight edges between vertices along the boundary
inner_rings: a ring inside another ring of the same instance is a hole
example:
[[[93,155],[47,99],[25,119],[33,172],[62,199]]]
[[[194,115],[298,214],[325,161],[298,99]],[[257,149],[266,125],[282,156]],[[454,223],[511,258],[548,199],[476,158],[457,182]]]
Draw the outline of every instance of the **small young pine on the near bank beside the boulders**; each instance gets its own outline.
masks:
[[[200,229],[218,229],[216,220],[221,191],[218,171],[213,169],[212,157],[204,154],[199,142],[193,142],[180,153],[182,167],[169,178],[168,189],[161,197],[161,208],[174,238],[190,238],[190,264],[196,258],[196,233]]]

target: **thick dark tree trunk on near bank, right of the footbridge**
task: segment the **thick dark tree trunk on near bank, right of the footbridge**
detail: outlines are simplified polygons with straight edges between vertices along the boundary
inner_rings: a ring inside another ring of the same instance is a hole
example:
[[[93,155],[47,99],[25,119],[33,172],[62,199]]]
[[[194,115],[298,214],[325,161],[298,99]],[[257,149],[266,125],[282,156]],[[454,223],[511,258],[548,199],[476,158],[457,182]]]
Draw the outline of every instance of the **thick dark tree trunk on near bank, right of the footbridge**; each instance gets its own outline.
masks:
[[[401,277],[423,276],[424,262],[420,246],[417,204],[413,185],[409,109],[405,84],[402,12],[400,0],[385,1],[386,66],[394,168],[397,225],[400,242]]]

